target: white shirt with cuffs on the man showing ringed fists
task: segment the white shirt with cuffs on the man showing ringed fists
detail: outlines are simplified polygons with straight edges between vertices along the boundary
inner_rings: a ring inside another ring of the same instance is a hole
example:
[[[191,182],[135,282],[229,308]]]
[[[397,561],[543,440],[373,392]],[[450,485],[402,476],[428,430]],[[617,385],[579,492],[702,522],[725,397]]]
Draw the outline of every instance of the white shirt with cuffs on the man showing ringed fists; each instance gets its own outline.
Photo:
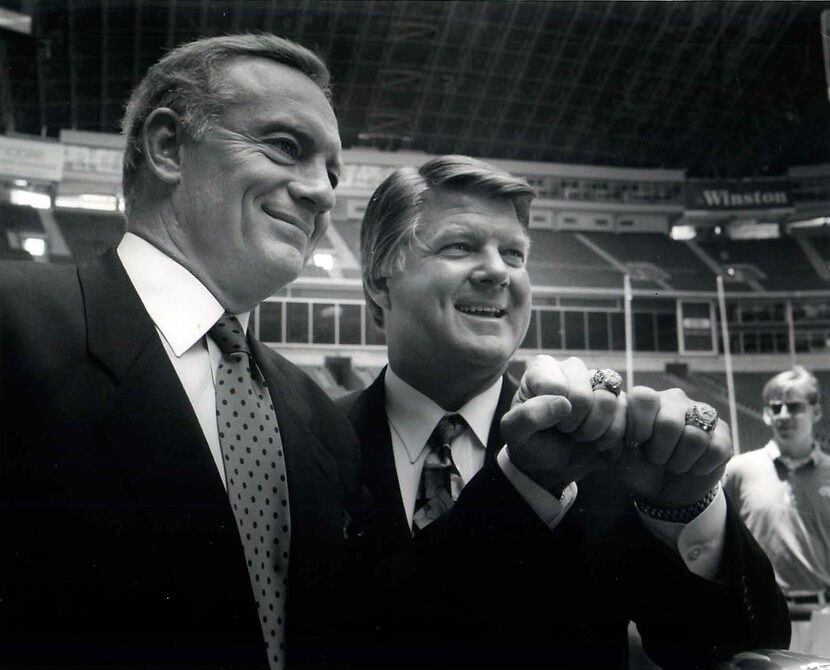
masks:
[[[502,378],[458,410],[466,428],[451,445],[453,461],[466,484],[484,465],[484,450],[496,413]],[[391,367],[384,377],[386,415],[392,435],[395,470],[407,522],[412,526],[418,485],[429,449],[427,440],[435,425],[447,414],[431,399],[403,381]],[[504,475],[539,518],[553,530],[576,500],[575,482],[562,497],[548,493],[510,462],[507,449],[499,451],[497,462]],[[696,575],[714,579],[720,567],[726,534],[726,498],[718,491],[712,503],[687,524],[658,521],[639,513],[656,537],[677,551],[686,567]]]

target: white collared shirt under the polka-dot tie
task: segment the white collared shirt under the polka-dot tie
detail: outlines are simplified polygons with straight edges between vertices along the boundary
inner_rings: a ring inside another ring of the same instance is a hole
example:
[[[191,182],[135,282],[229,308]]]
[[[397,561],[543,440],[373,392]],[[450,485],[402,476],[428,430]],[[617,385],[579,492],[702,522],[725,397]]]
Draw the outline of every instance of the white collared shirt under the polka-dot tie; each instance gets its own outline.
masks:
[[[117,251],[193,406],[224,483],[214,380],[222,354],[205,335],[225,310],[187,269],[137,235],[124,235]],[[247,330],[250,313],[236,317]]]

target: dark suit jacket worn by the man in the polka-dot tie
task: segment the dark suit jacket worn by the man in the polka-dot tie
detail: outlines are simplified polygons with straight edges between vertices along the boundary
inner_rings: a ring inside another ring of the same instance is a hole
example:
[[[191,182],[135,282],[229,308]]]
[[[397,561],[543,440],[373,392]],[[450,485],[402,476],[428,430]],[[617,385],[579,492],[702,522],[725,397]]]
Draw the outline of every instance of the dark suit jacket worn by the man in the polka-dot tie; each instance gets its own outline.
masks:
[[[346,421],[259,342],[285,446],[292,665],[339,653],[358,501]],[[265,668],[233,513],[114,251],[0,264],[0,666]]]

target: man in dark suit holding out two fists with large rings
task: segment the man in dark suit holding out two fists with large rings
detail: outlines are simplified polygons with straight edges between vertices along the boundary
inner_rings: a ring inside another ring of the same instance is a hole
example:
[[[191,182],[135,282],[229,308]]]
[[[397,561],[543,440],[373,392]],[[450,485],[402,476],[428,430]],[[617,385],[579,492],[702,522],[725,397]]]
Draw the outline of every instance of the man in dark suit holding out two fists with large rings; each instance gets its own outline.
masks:
[[[339,404],[377,551],[413,534],[440,547],[398,566],[379,626],[419,667],[626,667],[629,620],[664,667],[786,644],[769,563],[720,490],[725,424],[687,416],[705,407],[678,389],[618,396],[612,372],[574,358],[540,357],[521,388],[506,374],[530,316],[532,197],[445,156],[397,170],[367,208],[364,290],[389,366]]]

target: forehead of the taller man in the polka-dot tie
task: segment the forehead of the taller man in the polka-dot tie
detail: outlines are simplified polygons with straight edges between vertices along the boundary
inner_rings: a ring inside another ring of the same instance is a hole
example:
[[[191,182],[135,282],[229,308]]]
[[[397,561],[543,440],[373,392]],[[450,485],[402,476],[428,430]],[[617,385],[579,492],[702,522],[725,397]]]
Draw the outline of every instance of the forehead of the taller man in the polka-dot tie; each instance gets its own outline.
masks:
[[[239,57],[217,77],[233,100],[220,114],[223,124],[252,132],[266,132],[275,124],[292,126],[339,159],[337,117],[323,91],[305,74],[268,58]]]

